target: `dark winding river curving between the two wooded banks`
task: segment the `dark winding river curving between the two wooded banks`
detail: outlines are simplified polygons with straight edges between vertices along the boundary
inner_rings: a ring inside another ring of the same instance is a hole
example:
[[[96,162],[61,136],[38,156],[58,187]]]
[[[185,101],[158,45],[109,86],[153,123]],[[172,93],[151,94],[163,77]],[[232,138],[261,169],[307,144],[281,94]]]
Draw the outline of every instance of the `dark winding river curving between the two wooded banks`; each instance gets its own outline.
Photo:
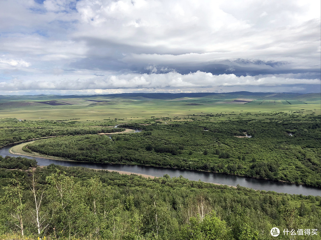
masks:
[[[25,141],[25,142],[28,142],[28,141]],[[11,144],[0,148],[0,155],[3,157],[4,156],[16,157],[17,155],[11,154],[9,152],[9,149],[21,143],[23,142]],[[81,166],[81,167],[88,167],[88,168],[95,168],[95,169],[106,169],[106,170],[109,169],[114,171],[125,171],[125,172],[133,172],[137,174],[147,174],[147,175],[157,176],[157,177],[162,177],[164,174],[169,174],[169,176],[171,177],[179,177],[180,175],[182,175],[184,178],[187,178],[189,180],[195,180],[195,181],[201,180],[204,182],[229,185],[229,186],[236,186],[237,184],[239,184],[242,187],[253,188],[258,190],[275,191],[275,192],[288,193],[288,194],[302,194],[306,196],[307,195],[321,196],[321,188],[317,188],[317,187],[310,187],[306,185],[278,182],[278,181],[272,181],[272,180],[241,177],[241,176],[235,176],[235,175],[223,174],[223,173],[184,170],[184,169],[176,169],[176,168],[162,168],[162,167],[143,166],[143,165],[100,164],[100,163],[52,160],[47,158],[29,157],[29,156],[23,156],[23,157],[36,159],[36,161],[40,166],[48,166],[49,164],[57,164],[57,165],[63,165],[63,166]]]

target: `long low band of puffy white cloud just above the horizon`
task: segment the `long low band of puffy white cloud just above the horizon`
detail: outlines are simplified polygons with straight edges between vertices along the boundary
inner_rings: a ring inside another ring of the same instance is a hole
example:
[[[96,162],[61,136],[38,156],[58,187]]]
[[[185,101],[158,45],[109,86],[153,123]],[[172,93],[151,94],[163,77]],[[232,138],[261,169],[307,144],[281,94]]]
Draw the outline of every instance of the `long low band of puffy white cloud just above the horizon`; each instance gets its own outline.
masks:
[[[82,90],[82,89],[188,89],[218,86],[282,86],[296,84],[320,84],[319,79],[295,79],[282,76],[236,76],[234,74],[213,75],[200,72],[182,75],[177,72],[166,74],[123,74],[106,77],[87,72],[79,78],[60,75],[40,79],[14,79],[0,82],[2,90]]]

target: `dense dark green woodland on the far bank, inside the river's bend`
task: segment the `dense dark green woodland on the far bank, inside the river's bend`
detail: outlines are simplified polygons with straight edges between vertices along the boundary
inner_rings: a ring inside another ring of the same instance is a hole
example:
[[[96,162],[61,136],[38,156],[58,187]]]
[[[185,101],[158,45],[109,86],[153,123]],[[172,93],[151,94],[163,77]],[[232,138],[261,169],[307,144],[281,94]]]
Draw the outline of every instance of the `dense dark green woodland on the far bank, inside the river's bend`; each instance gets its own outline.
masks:
[[[122,124],[143,131],[113,135],[111,140],[98,135],[66,136],[35,141],[27,148],[76,161],[177,167],[321,186],[319,117],[309,122],[159,123]],[[236,137],[244,133],[252,137]]]

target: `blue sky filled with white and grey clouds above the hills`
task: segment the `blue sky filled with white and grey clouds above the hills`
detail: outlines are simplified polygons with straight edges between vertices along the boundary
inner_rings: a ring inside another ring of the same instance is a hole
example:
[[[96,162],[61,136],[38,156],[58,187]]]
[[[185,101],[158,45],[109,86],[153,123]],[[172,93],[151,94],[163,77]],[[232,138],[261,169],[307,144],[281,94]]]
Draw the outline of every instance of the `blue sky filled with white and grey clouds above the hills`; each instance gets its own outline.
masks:
[[[321,92],[320,0],[1,0],[0,94]]]

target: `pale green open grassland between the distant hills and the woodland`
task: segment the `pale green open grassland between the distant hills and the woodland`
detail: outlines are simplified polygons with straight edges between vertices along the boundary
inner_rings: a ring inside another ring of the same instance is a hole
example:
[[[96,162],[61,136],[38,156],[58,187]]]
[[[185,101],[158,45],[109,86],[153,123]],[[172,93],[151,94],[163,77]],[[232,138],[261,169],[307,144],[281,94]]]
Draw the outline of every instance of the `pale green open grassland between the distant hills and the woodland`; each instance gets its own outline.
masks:
[[[302,97],[303,96],[303,97]],[[117,122],[142,121],[155,117],[187,119],[187,115],[206,114],[259,114],[255,118],[265,118],[265,114],[282,111],[299,118],[307,114],[319,115],[321,98],[316,94],[304,94],[297,97],[267,97],[251,95],[219,94],[205,97],[184,97],[177,99],[152,99],[145,97],[86,97],[55,99],[68,105],[48,105],[40,102],[53,100],[49,97],[41,100],[3,100],[0,99],[0,118],[15,117],[26,120],[58,120],[79,118],[80,121],[117,119]],[[91,101],[88,101],[91,100]],[[103,101],[103,102],[93,102]],[[236,101],[235,101],[236,100]],[[239,101],[249,102],[239,102]],[[72,104],[72,105],[69,105]],[[298,113],[299,111],[299,113]],[[297,112],[297,113],[294,113]],[[213,118],[213,121],[226,120],[228,115]],[[233,115],[232,115],[233,116]],[[288,117],[288,116],[284,116]],[[282,119],[282,116],[278,116]]]

